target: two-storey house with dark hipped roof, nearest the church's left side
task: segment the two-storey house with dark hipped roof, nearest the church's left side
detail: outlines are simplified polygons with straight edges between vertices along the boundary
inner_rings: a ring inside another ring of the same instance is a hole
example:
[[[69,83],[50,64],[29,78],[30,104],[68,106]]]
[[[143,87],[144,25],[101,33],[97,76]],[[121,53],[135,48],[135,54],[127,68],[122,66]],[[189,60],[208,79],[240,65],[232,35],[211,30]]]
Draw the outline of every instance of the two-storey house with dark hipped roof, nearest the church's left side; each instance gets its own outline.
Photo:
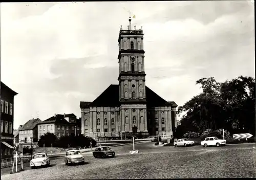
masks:
[[[54,133],[58,138],[61,136],[78,136],[81,134],[81,120],[74,114],[55,114],[51,118],[37,124],[38,140],[47,132]]]

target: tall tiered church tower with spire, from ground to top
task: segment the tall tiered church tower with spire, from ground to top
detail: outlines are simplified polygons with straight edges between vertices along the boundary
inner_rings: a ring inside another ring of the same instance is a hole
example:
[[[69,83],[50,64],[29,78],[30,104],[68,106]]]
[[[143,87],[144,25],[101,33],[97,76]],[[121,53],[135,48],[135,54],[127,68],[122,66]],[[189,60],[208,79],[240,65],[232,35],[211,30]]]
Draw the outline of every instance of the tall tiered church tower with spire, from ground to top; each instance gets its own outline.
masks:
[[[119,32],[119,116],[122,132],[147,132],[143,31],[132,30],[131,16],[127,30]]]

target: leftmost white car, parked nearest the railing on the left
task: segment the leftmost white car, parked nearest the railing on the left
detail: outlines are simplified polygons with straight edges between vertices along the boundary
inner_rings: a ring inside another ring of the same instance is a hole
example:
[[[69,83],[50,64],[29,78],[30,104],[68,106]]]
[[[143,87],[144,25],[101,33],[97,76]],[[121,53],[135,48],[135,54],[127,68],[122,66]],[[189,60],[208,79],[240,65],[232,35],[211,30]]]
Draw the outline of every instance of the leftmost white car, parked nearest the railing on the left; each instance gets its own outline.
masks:
[[[50,166],[50,158],[47,153],[36,153],[30,161],[31,169],[38,166]]]

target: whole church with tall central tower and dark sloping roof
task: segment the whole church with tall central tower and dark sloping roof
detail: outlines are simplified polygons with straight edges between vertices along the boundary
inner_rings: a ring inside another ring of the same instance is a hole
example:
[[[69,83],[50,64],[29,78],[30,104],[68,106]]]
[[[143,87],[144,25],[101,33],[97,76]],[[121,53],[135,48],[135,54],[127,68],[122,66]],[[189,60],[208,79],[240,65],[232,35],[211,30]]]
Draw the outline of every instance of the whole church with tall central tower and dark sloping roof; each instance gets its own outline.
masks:
[[[143,31],[120,28],[119,84],[111,84],[94,101],[81,101],[81,133],[117,138],[126,133],[172,136],[177,126],[174,101],[165,101],[145,84]]]

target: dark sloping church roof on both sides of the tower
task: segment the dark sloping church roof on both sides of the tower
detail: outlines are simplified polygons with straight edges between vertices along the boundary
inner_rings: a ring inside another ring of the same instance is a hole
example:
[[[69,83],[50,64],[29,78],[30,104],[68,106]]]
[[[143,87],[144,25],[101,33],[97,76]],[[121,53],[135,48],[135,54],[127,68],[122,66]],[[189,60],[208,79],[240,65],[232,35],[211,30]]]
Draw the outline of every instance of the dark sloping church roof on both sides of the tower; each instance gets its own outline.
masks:
[[[178,105],[174,101],[165,101],[154,91],[146,86],[146,104],[149,107],[172,106]],[[118,107],[119,104],[119,85],[111,84],[99,95],[93,102],[80,102],[80,108],[86,107]]]

